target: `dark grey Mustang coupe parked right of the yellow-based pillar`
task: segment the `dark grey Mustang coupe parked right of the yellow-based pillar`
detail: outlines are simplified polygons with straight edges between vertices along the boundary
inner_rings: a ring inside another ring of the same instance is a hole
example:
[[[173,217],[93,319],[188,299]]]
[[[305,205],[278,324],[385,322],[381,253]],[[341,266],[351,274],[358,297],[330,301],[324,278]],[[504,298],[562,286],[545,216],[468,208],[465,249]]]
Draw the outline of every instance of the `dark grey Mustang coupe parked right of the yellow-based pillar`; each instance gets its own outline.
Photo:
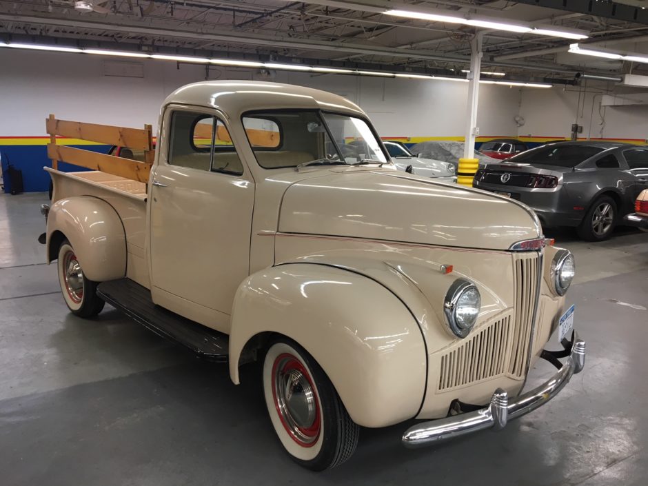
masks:
[[[529,205],[546,227],[576,226],[581,238],[600,241],[648,188],[648,147],[549,143],[480,168],[473,185]]]

